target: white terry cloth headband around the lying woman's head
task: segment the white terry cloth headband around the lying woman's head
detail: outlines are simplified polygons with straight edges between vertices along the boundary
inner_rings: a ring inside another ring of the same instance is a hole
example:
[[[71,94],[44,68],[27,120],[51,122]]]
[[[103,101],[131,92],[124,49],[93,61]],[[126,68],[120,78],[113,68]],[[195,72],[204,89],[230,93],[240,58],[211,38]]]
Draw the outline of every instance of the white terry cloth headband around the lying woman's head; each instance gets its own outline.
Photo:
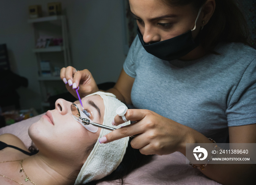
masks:
[[[116,99],[115,95],[108,92],[98,91],[87,95],[86,97],[91,95],[99,95],[103,99],[105,114],[102,125],[116,128],[121,127],[121,125],[113,126],[112,121],[117,115],[116,109],[124,105],[124,103]],[[130,123],[130,121],[125,122],[122,124],[122,126],[129,125]],[[101,129],[99,138],[108,133],[110,133],[109,130]],[[129,137],[118,139],[106,144],[101,144],[97,141],[82,169],[80,170],[80,173],[76,178],[75,185],[80,183],[87,183],[93,180],[99,180],[112,173],[123,160],[128,142]]]

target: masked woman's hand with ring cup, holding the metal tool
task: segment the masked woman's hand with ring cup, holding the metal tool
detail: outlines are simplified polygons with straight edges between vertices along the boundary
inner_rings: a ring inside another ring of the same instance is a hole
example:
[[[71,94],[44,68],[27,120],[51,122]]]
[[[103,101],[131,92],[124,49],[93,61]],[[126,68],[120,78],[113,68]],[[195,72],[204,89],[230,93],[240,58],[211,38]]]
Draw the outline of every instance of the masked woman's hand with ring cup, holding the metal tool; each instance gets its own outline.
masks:
[[[150,110],[129,109],[125,118],[135,123],[116,129],[102,137],[100,141],[108,143],[123,137],[136,135],[131,146],[142,154],[170,154],[175,151],[184,153],[189,130],[171,119],[162,117]],[[124,123],[120,116],[114,118],[114,125]]]

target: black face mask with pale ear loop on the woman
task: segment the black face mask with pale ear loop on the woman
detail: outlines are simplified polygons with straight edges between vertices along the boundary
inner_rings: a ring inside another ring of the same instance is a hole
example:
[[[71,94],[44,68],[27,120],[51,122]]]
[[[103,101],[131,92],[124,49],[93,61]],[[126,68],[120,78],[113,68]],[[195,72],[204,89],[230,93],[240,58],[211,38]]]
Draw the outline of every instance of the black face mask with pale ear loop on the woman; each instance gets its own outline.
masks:
[[[199,9],[196,21],[200,15],[201,9],[202,7]],[[137,28],[137,33],[140,42],[142,43],[142,46],[148,53],[156,56],[159,59],[171,61],[187,55],[190,51],[199,46],[200,33],[198,34],[196,39],[193,39],[192,37],[192,31],[195,30],[195,27],[194,29],[185,32],[182,35],[178,35],[174,38],[163,40],[153,44],[147,44],[144,42],[143,36],[140,33],[139,28]]]

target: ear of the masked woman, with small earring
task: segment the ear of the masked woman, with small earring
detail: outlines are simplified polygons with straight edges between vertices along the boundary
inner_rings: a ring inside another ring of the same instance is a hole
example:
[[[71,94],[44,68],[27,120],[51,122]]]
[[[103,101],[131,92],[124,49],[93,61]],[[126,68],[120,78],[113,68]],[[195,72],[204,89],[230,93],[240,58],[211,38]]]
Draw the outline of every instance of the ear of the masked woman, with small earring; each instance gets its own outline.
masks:
[[[202,8],[202,23],[201,26],[204,26],[208,23],[208,21],[211,19],[211,16],[213,15],[215,11],[215,0],[207,0],[204,7]]]

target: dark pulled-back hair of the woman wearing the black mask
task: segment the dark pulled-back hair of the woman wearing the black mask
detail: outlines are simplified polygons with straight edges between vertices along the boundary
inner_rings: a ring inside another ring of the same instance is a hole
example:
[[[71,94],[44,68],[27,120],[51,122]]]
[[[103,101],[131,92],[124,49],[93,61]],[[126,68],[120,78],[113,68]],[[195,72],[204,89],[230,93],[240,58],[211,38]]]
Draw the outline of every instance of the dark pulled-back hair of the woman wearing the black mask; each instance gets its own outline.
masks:
[[[199,9],[206,0],[161,0],[169,6],[184,6],[191,4]],[[248,44],[248,27],[244,15],[234,0],[215,0],[216,7],[209,22],[204,26],[202,46],[207,51],[214,52],[219,42],[241,42]]]

